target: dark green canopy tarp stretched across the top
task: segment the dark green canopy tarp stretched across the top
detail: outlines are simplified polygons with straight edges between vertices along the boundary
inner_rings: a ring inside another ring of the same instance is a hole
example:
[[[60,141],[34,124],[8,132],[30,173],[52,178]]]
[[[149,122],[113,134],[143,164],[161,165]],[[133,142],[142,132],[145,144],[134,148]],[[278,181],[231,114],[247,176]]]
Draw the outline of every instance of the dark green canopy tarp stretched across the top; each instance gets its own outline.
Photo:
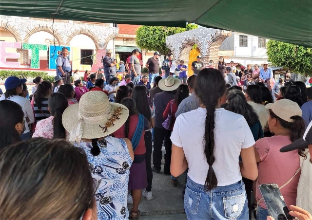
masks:
[[[193,22],[312,47],[312,0],[0,0],[0,14],[176,27]]]

